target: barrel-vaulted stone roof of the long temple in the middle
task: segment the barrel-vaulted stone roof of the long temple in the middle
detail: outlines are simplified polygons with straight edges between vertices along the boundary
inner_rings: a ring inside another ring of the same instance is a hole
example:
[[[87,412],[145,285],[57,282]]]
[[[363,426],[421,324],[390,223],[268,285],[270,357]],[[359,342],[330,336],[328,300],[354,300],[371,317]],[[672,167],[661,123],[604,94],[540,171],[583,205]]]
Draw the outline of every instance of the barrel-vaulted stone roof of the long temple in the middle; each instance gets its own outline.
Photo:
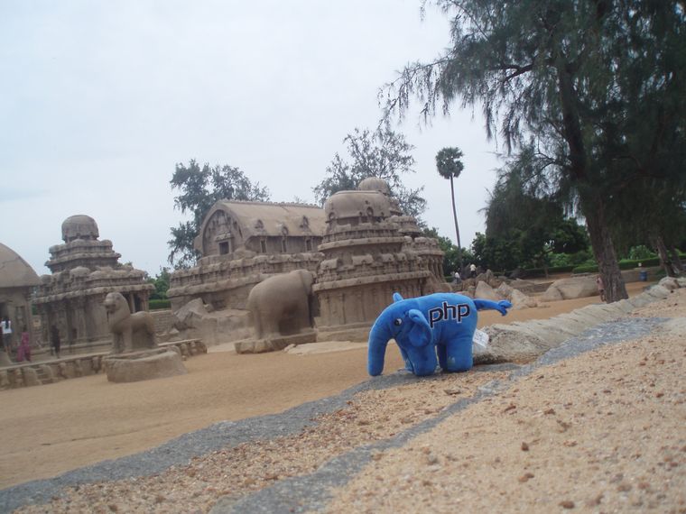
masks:
[[[246,239],[253,235],[283,235],[284,229],[289,235],[322,235],[326,229],[324,210],[317,206],[219,200],[205,219],[217,209],[226,211],[242,225]]]

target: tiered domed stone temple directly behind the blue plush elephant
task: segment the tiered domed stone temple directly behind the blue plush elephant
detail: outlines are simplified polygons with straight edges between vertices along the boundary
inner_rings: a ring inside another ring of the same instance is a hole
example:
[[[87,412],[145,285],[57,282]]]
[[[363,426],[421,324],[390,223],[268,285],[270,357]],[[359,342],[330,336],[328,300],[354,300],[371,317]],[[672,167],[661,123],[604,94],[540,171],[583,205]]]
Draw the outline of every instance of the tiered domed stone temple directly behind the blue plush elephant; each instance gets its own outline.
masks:
[[[402,215],[383,180],[339,191],[324,213],[324,258],[313,286],[321,336],[370,326],[394,292],[411,298],[447,290],[438,243],[419,237],[416,220]]]

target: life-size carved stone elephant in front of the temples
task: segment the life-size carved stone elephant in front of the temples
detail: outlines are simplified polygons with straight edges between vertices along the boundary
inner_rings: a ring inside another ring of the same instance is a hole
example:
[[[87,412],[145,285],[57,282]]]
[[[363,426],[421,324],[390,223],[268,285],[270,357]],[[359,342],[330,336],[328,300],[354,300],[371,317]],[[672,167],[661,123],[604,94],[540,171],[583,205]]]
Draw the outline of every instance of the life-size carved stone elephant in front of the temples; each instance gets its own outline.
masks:
[[[314,274],[295,270],[274,275],[250,290],[247,308],[256,339],[298,334],[314,325]]]

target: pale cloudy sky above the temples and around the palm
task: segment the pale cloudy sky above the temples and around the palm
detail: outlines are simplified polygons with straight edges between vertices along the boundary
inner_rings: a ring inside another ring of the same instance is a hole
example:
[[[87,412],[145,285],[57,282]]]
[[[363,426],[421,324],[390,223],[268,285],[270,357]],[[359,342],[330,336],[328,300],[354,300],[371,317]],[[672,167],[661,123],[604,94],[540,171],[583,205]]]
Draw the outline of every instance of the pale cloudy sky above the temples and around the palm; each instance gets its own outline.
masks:
[[[60,226],[96,219],[122,262],[166,264],[174,165],[230,164],[275,201],[313,200],[343,138],[374,128],[378,88],[449,42],[420,0],[3,0],[0,2],[0,242],[39,273]],[[396,130],[415,146],[411,187],[452,236],[449,182],[434,156],[465,152],[462,243],[484,230],[499,161],[477,112]]]

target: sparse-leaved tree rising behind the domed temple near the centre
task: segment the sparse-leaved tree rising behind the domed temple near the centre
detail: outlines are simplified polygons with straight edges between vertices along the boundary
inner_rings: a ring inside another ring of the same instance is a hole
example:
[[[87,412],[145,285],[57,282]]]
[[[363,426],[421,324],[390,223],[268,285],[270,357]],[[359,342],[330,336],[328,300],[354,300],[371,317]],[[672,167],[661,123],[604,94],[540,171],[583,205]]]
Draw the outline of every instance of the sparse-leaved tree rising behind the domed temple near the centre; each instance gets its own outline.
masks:
[[[422,215],[426,209],[426,200],[421,196],[423,188],[406,188],[402,182],[403,174],[414,173],[414,147],[405,141],[402,133],[392,131],[387,125],[373,133],[356,128],[343,142],[347,143],[348,159],[337,152],[327,167],[327,177],[312,188],[320,205],[338,191],[357,189],[363,179],[378,177],[388,183],[403,214]]]

